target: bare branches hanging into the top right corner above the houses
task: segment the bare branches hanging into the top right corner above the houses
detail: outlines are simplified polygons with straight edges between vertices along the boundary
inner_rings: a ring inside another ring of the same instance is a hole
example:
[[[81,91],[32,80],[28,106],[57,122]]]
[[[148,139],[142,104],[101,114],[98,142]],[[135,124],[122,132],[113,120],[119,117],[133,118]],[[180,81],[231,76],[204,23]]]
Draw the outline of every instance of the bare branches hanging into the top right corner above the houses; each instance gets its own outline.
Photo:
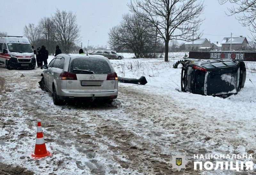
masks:
[[[249,27],[252,34],[253,45],[256,46],[256,0],[218,0],[220,4],[230,2],[236,4],[236,7],[228,8],[228,16],[242,14],[236,16],[239,23],[244,27]]]

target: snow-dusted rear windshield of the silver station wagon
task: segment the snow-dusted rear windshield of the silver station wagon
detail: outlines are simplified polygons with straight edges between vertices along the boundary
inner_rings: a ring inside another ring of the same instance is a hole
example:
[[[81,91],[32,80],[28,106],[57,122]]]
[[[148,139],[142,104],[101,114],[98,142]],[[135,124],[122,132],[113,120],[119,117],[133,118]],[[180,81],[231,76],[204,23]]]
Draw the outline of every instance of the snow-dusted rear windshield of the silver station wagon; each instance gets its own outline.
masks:
[[[71,60],[68,71],[77,74],[107,74],[113,72],[106,60],[98,58],[75,58]]]

